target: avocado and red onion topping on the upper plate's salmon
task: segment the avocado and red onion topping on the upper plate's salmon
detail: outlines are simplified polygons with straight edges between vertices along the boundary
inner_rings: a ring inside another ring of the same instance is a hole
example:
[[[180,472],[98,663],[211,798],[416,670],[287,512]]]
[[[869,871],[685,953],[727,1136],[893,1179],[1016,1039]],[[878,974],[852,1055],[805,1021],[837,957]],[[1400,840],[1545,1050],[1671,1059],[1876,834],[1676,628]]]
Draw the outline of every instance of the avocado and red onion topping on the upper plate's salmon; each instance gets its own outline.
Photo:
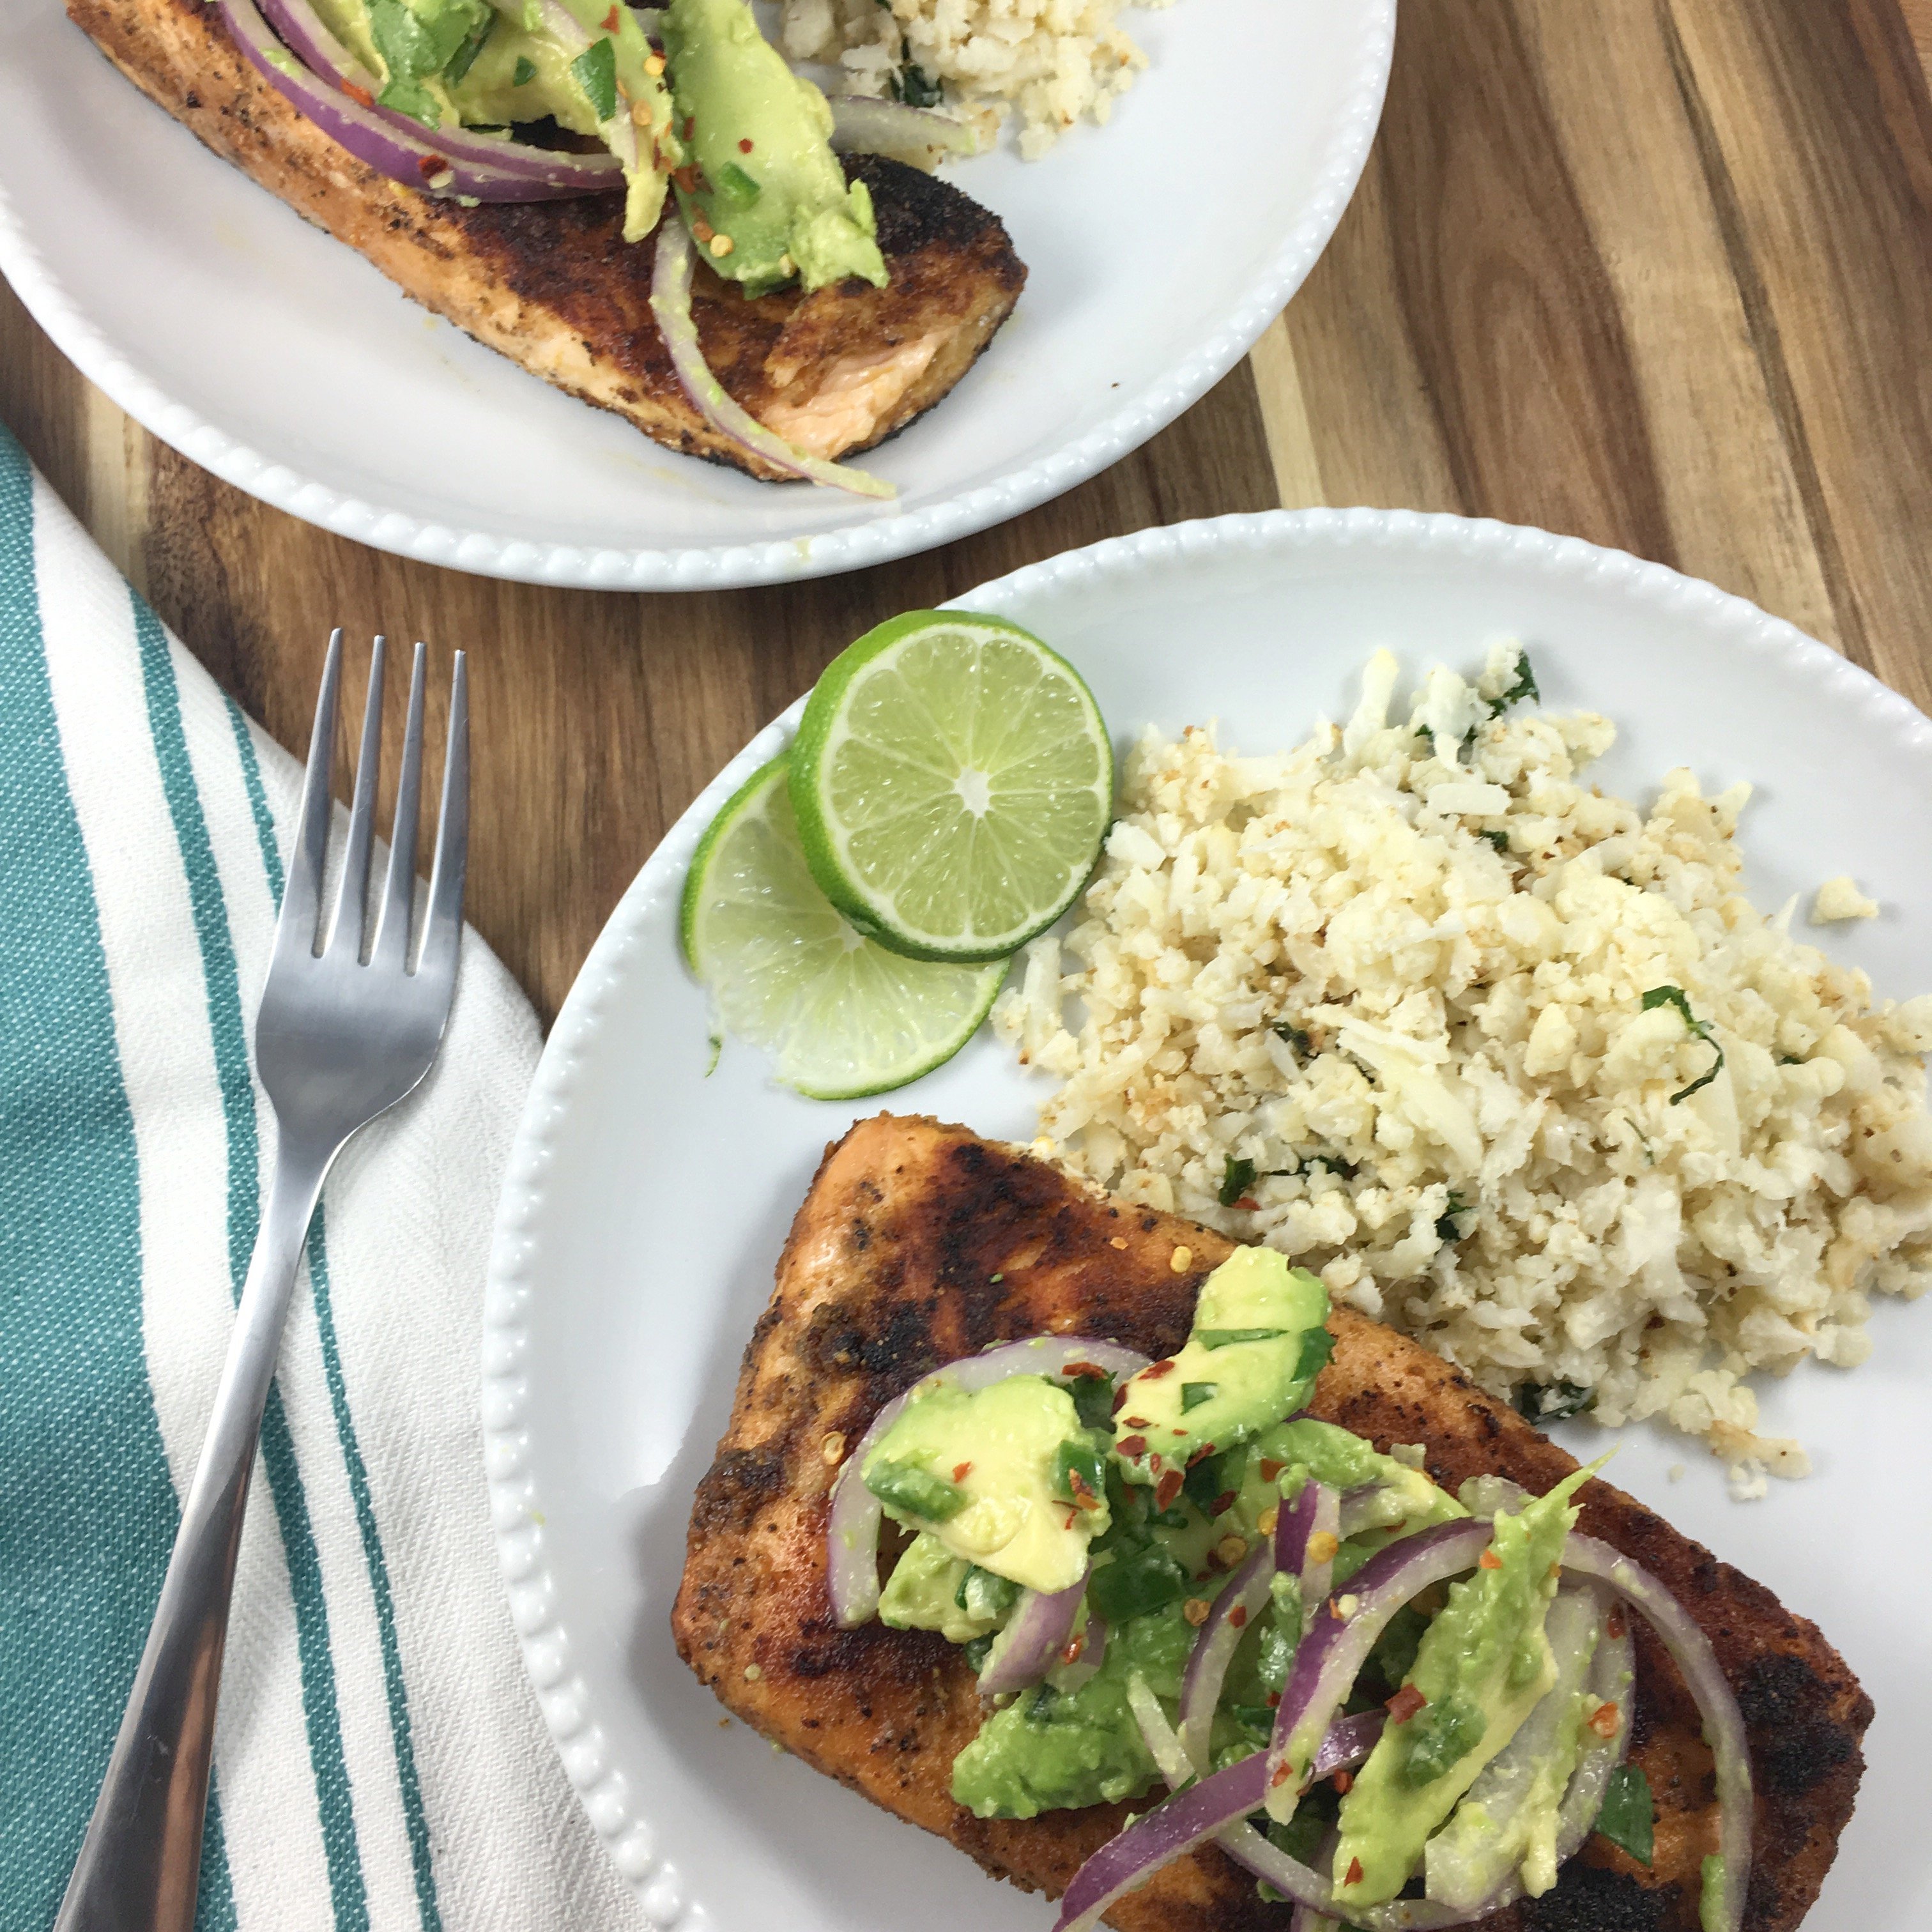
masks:
[[[831,104],[765,41],[748,0],[668,0],[653,10],[622,0],[218,4],[255,70],[379,174],[466,205],[622,185],[624,240],[657,232],[651,313],[697,413],[765,466],[755,473],[895,495],[757,421],[697,342],[694,243],[746,296],[889,280],[871,195],[864,182],[846,182],[833,153]],[[966,143],[966,129],[945,116],[866,106],[846,129],[848,147],[910,145],[937,156]],[[931,126],[912,141],[891,116]],[[570,137],[601,149],[580,153]],[[676,220],[663,220],[672,187]]]

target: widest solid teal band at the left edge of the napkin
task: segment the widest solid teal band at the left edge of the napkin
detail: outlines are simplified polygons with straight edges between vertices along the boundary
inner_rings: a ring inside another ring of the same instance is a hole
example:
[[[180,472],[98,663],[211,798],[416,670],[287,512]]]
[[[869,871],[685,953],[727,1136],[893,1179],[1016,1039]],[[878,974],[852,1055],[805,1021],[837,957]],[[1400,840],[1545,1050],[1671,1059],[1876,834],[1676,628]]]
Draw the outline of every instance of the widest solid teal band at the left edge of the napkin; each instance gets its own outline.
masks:
[[[180,1522],[141,1345],[141,1177],[0,429],[0,1899],[54,1918]],[[209,1803],[201,1932],[234,1932]]]

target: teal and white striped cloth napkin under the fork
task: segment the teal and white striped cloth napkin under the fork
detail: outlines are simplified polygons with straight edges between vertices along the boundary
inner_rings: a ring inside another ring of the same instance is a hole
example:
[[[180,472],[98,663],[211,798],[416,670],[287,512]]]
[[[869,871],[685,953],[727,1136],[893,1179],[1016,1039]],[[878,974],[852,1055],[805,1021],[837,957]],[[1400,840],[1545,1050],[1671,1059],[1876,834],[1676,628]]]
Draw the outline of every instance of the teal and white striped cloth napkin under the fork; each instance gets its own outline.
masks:
[[[133,1679],[274,1144],[249,1036],[299,769],[0,429],[0,1922],[43,1932]],[[524,1679],[479,1424],[537,1057],[471,933],[435,1072],[309,1231],[242,1542],[203,1932],[643,1915]]]

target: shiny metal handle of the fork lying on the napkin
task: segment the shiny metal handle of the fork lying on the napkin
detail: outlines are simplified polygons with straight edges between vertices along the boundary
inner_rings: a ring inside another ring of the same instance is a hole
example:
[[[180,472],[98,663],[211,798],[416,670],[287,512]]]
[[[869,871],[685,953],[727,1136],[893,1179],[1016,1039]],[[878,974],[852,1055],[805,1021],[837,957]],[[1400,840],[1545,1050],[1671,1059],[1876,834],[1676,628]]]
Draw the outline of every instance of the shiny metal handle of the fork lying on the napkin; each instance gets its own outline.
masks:
[[[209,1434],[54,1932],[193,1928],[214,1702],[255,1437],[301,1244],[334,1155],[336,1146],[288,1140],[276,1153]]]

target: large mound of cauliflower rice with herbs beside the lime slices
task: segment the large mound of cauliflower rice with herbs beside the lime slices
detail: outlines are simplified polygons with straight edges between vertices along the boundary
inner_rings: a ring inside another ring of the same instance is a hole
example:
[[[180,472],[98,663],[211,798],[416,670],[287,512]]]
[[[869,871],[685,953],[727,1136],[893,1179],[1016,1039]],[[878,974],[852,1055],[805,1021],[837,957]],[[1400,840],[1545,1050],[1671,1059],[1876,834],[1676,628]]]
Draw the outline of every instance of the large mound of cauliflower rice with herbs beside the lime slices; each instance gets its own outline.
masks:
[[[1932,1279],[1932,995],[1874,1007],[1750,906],[1747,784],[1673,771],[1646,817],[1578,782],[1613,726],[1507,709],[1520,665],[1437,668],[1395,724],[1381,651],[1277,757],[1150,732],[1072,960],[1036,941],[993,1024],[1061,1082],[1039,1151],[1072,1173],[1528,1410],[1665,1416],[1762,1495],[1808,1463],[1741,1378],[1862,1362],[1868,1296]]]

